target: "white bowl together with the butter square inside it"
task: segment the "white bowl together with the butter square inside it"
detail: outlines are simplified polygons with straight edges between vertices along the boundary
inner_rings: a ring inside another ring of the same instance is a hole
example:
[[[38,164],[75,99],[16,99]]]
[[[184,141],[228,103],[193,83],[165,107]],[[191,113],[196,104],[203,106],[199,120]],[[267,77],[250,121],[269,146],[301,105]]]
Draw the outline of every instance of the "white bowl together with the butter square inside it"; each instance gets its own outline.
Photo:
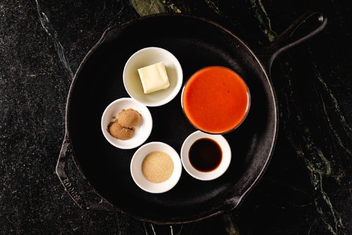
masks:
[[[143,48],[127,60],[123,81],[127,93],[139,103],[161,106],[174,99],[181,89],[181,64],[163,48]]]

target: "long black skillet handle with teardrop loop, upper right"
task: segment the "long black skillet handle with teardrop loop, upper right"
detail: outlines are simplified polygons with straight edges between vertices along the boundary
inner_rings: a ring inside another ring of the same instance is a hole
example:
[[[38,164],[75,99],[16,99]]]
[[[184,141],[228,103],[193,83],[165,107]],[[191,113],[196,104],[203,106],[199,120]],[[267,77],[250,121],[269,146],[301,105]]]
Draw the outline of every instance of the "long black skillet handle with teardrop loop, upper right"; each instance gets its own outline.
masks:
[[[271,64],[278,54],[316,35],[326,24],[326,16],[319,11],[308,11],[298,17],[269,46],[260,51],[259,57],[266,71],[270,74]]]

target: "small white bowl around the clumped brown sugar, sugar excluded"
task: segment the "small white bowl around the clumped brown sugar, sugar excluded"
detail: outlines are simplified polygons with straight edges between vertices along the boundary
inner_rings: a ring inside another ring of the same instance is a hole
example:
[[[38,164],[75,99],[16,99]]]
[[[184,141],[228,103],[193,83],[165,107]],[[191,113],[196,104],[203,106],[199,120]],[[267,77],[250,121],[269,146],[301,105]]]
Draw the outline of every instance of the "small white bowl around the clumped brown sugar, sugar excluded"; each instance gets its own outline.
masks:
[[[109,134],[107,126],[118,118],[122,109],[134,109],[142,115],[142,122],[134,129],[134,135],[129,140],[118,140]],[[115,118],[113,118],[115,116]],[[149,109],[132,98],[121,98],[109,104],[101,117],[101,130],[109,143],[120,149],[132,149],[143,144],[150,135],[153,127]]]

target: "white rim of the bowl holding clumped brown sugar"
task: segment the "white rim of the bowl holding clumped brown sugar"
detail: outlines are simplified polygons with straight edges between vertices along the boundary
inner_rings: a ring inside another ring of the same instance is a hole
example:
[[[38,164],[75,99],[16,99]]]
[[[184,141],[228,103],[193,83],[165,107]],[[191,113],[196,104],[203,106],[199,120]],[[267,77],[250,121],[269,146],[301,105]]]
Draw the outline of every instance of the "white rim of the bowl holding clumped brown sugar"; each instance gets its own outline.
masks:
[[[148,125],[150,126],[150,130],[147,132],[147,135],[143,139],[141,139],[141,141],[138,141],[138,142],[135,141],[134,144],[130,145],[130,146],[121,146],[120,144],[116,144],[116,143],[110,141],[109,138],[107,137],[106,132],[105,132],[106,131],[106,127],[103,126],[103,120],[104,120],[104,117],[106,116],[106,112],[108,111],[108,109],[110,107],[112,107],[113,105],[115,105],[116,103],[119,103],[119,102],[124,101],[124,100],[129,100],[129,101],[132,101],[132,102],[136,102],[138,105],[141,105],[143,108],[145,108],[148,111],[147,115],[150,116],[150,120],[151,120],[151,122],[148,123]],[[108,106],[106,106],[106,108],[105,108],[105,110],[104,110],[104,112],[103,112],[103,114],[101,116],[101,124],[100,125],[101,125],[101,131],[103,132],[103,135],[104,135],[105,139],[110,144],[112,144],[114,147],[119,148],[119,149],[133,149],[133,148],[137,148],[138,146],[143,144],[149,138],[149,136],[150,136],[150,134],[152,132],[152,129],[153,129],[153,117],[152,117],[152,115],[151,115],[151,113],[150,113],[150,111],[149,111],[147,106],[137,102],[137,100],[135,100],[133,98],[124,97],[124,98],[116,99],[116,100],[112,101]],[[142,142],[142,140],[143,140],[143,142]]]

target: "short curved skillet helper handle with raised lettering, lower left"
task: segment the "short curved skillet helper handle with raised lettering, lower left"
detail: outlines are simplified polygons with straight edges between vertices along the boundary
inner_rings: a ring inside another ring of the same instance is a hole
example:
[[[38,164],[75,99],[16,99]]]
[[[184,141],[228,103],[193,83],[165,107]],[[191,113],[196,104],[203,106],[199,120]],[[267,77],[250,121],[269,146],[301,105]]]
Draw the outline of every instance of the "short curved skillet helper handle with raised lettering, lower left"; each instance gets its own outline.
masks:
[[[89,202],[87,201],[82,194],[77,192],[77,189],[72,185],[71,182],[65,173],[64,167],[66,165],[69,157],[73,157],[74,153],[71,147],[71,142],[68,133],[66,132],[64,142],[61,147],[60,156],[56,165],[56,174],[59,177],[62,185],[65,188],[65,191],[68,192],[70,197],[74,202],[81,208],[86,210],[99,210],[99,211],[117,211],[111,204],[109,204],[104,198],[100,197],[100,202]]]

